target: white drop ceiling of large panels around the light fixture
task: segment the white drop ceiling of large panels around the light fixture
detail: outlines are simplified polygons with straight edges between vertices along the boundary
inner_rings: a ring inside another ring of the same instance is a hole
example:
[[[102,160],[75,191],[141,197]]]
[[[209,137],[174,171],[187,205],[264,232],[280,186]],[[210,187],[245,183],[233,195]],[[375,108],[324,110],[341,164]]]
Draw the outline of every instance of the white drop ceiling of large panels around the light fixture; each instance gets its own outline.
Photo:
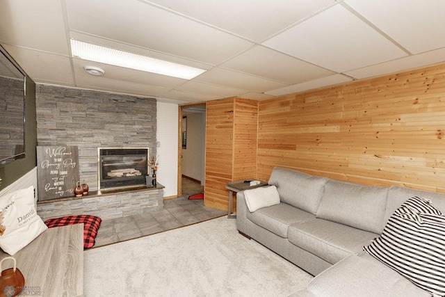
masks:
[[[36,83],[261,100],[442,63],[444,11],[443,0],[2,0],[0,43]],[[186,80],[84,61],[70,39],[207,71]]]

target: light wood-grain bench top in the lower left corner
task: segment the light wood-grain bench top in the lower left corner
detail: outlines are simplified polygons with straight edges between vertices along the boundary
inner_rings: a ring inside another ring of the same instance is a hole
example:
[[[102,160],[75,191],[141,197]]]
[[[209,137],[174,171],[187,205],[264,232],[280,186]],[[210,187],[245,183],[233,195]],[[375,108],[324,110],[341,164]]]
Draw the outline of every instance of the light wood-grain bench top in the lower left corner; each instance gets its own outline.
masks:
[[[49,228],[13,257],[25,278],[22,294],[83,296],[83,224]]]

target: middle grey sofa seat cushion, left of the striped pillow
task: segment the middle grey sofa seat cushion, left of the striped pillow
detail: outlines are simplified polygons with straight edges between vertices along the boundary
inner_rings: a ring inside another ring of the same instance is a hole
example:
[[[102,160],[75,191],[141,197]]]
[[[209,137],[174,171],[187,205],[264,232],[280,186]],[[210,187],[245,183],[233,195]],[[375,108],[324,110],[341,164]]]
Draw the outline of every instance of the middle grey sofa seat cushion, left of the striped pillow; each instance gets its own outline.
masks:
[[[362,251],[378,234],[316,218],[289,227],[288,239],[294,245],[335,264]]]

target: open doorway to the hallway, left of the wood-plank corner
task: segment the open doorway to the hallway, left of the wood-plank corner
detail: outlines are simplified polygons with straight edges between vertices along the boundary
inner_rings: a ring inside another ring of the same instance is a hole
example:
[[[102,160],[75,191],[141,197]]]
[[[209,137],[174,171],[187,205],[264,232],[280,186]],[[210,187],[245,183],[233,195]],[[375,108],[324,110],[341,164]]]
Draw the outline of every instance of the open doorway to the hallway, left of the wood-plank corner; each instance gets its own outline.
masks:
[[[191,188],[204,191],[205,131],[205,103],[179,106],[178,196],[193,194]]]

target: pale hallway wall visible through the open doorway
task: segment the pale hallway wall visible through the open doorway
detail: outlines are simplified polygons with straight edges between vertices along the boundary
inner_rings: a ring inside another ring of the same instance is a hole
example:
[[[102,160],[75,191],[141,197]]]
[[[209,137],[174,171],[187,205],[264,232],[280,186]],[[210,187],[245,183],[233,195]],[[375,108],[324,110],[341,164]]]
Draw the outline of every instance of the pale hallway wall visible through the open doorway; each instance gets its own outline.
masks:
[[[204,184],[205,113],[187,114],[187,148],[182,149],[182,174]]]

